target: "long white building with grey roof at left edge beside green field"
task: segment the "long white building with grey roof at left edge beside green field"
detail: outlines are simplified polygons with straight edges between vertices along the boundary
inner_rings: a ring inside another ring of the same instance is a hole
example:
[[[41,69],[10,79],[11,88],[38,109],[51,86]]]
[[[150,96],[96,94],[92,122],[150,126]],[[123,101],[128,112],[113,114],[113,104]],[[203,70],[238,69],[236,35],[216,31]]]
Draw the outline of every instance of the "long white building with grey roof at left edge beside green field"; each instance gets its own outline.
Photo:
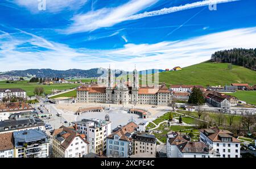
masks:
[[[26,99],[27,92],[22,88],[0,88],[0,101],[2,101],[3,98],[10,98],[11,96]]]

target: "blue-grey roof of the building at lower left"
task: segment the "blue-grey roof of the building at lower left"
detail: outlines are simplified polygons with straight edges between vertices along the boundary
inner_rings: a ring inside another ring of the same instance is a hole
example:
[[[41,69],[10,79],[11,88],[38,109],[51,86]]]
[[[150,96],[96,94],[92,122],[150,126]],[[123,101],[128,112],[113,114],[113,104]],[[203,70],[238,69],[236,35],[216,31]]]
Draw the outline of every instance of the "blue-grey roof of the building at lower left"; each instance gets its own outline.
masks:
[[[14,146],[19,147],[19,142],[28,143],[31,141],[43,140],[48,142],[46,133],[42,132],[40,129],[30,129],[22,130],[18,132],[13,132]]]

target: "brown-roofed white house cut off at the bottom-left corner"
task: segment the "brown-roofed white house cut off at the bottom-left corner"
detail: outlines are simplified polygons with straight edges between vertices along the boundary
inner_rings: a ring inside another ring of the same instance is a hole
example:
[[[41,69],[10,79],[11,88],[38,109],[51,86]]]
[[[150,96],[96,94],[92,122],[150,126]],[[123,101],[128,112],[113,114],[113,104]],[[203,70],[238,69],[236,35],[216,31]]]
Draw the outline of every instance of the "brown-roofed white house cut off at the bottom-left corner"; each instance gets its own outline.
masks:
[[[0,158],[13,158],[13,132],[0,133]]]

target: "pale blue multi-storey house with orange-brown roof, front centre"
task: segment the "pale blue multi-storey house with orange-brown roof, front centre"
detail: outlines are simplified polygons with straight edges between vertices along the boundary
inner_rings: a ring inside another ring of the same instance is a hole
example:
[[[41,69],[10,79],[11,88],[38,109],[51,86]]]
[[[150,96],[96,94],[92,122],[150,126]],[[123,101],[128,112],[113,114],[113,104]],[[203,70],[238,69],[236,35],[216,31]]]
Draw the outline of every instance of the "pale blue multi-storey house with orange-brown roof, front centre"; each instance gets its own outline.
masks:
[[[138,125],[133,121],[119,126],[107,137],[107,157],[127,158],[133,154],[133,134]]]

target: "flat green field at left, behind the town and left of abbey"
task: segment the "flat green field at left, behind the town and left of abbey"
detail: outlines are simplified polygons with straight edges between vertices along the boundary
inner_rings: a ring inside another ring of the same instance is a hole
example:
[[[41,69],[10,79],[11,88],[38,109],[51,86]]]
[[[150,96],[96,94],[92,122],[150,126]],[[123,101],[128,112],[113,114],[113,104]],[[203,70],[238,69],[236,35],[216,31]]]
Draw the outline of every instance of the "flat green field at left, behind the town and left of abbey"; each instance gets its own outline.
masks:
[[[35,87],[43,87],[44,92],[46,94],[51,94],[52,89],[57,90],[67,90],[69,88],[74,88],[80,86],[79,83],[77,84],[50,84],[50,85],[43,85],[38,83],[28,83],[28,81],[15,81],[14,83],[6,83],[6,81],[0,82],[0,88],[22,88],[23,90],[27,91],[28,96],[34,96],[34,89]]]

